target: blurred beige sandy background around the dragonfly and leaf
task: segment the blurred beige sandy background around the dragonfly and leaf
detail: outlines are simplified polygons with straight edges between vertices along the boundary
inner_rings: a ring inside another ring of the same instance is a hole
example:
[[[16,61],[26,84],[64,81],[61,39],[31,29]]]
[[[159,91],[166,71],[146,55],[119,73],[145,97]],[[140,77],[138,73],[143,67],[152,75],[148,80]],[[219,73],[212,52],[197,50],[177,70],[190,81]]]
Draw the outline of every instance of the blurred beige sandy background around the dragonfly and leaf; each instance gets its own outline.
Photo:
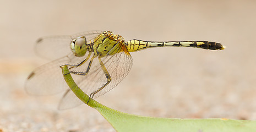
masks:
[[[34,53],[37,38],[90,30],[227,47],[132,53],[126,79],[98,102],[143,116],[256,119],[256,1],[0,1],[0,19],[0,131],[115,131],[86,105],[58,111],[62,94],[24,90],[29,73],[47,62]]]

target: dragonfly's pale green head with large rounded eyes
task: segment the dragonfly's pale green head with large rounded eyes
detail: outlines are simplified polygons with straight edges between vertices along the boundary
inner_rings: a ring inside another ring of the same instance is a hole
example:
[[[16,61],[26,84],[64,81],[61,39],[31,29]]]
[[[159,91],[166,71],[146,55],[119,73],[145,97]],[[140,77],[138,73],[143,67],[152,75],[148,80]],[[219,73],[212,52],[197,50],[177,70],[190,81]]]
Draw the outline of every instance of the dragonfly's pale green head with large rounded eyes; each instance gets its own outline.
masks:
[[[83,57],[87,51],[86,38],[84,36],[77,37],[70,43],[71,51],[76,57]]]

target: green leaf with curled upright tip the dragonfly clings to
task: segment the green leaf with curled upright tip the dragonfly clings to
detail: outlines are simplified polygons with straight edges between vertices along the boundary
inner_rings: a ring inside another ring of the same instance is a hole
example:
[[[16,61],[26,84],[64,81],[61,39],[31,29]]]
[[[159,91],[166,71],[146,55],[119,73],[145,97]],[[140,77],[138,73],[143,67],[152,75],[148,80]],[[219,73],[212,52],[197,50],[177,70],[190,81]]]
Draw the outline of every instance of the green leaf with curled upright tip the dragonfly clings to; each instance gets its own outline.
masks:
[[[67,65],[61,66],[64,79],[74,94],[84,103],[89,96],[75,84]],[[254,120],[153,118],[127,114],[108,108],[92,98],[88,106],[97,109],[117,131],[256,131]]]

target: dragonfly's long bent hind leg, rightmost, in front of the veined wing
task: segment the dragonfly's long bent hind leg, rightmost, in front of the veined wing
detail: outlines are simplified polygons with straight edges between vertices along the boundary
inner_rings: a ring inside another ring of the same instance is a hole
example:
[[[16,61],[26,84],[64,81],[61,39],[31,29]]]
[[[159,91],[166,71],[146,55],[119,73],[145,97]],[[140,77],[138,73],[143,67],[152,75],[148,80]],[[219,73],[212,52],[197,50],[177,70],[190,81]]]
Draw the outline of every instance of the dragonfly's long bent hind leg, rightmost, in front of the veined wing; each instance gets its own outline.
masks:
[[[97,94],[97,92],[99,92],[99,91],[101,91],[102,89],[104,89],[104,87],[106,87],[106,86],[110,83],[110,81],[111,81],[111,76],[110,76],[110,74],[107,72],[107,69],[106,69],[104,63],[101,61],[100,57],[99,57],[99,62],[100,62],[100,65],[101,65],[101,68],[102,68],[104,74],[106,75],[107,83],[104,84],[103,86],[101,86],[100,89],[97,89],[96,91],[92,92],[92,93],[90,94],[89,100],[90,100],[90,98],[93,98],[94,95]],[[89,103],[89,100],[88,100],[87,103]]]

